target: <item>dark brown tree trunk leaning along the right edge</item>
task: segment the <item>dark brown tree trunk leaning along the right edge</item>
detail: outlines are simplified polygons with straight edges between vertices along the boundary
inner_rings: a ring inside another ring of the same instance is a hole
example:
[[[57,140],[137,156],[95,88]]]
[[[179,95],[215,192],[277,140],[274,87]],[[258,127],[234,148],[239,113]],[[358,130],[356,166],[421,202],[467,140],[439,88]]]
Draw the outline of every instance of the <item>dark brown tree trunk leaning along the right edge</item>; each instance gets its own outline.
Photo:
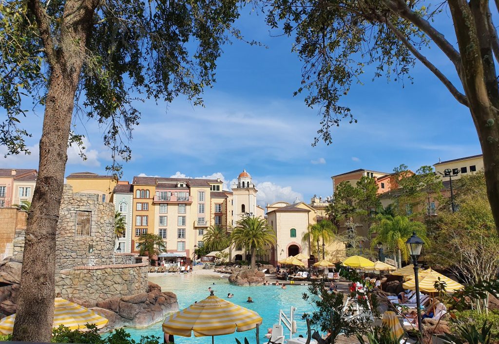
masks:
[[[499,89],[487,28],[489,2],[448,2],[461,51],[461,81],[482,147],[487,195],[499,233]]]

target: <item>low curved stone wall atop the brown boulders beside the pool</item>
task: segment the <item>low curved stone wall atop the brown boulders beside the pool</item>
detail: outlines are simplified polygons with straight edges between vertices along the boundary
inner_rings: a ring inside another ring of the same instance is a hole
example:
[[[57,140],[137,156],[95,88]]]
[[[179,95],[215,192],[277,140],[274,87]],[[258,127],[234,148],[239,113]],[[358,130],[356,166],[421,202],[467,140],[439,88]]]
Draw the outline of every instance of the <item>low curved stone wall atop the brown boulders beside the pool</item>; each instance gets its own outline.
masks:
[[[55,292],[63,298],[77,298],[91,307],[98,302],[147,291],[149,264],[78,266],[60,270],[55,276]]]

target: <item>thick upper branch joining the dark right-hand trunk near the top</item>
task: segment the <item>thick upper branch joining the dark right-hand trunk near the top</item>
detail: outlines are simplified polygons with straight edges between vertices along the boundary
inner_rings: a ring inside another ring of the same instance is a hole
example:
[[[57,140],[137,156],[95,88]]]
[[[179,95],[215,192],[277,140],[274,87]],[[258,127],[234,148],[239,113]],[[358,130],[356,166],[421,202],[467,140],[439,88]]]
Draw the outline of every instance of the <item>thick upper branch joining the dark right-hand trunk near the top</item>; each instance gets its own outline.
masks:
[[[396,1],[396,3],[394,2]],[[386,6],[392,10],[394,13],[400,15],[402,18],[409,20],[414,25],[419,27],[423,32],[425,32],[437,46],[442,50],[444,54],[454,63],[456,70],[461,78],[463,73],[463,66],[461,63],[461,55],[459,51],[454,48],[454,46],[445,39],[445,36],[435,29],[428,20],[424,19],[421,15],[413,11],[407,6],[403,0],[383,0]]]

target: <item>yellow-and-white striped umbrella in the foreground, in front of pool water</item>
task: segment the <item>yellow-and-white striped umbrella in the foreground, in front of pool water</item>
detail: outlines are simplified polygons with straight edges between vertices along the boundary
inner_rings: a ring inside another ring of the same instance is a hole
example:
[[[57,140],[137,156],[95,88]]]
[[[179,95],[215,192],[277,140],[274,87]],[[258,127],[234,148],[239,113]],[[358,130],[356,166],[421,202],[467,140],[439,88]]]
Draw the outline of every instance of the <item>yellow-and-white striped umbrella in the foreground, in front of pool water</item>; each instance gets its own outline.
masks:
[[[258,313],[211,295],[165,319],[163,332],[170,335],[195,337],[229,335],[261,325]]]

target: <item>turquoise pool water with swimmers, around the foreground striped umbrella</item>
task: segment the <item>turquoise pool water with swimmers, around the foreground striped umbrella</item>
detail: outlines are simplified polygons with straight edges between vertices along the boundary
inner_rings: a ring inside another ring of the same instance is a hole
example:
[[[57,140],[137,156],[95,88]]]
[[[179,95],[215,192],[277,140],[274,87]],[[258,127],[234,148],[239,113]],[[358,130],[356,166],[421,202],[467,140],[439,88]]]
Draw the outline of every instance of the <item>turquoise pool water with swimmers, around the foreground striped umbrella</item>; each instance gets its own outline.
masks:
[[[312,306],[302,299],[302,294],[308,291],[307,286],[294,285],[288,286],[287,289],[276,286],[236,287],[230,285],[227,279],[206,275],[150,276],[149,281],[159,284],[164,291],[172,291],[177,294],[180,309],[189,307],[195,301],[201,301],[208,297],[210,295],[208,288],[212,287],[216,296],[257,312],[263,318],[260,327],[260,343],[267,343],[268,340],[264,335],[267,333],[267,328],[278,322],[279,309],[282,309],[289,316],[290,307],[296,307],[295,320],[298,332],[294,335],[295,337],[300,334],[306,335],[306,324],[301,320],[301,315],[313,311]],[[234,294],[234,297],[227,299],[228,293]],[[246,302],[249,296],[253,299],[253,303]],[[141,336],[163,336],[161,325],[162,323],[158,323],[146,329],[127,328],[126,331],[138,341]],[[286,328],[284,328],[284,335],[289,338],[289,331]],[[245,337],[250,343],[255,343],[254,330],[218,336],[215,337],[215,343],[236,344],[235,338],[244,343]],[[184,338],[175,336],[175,343],[211,344],[212,339],[211,337]]]

